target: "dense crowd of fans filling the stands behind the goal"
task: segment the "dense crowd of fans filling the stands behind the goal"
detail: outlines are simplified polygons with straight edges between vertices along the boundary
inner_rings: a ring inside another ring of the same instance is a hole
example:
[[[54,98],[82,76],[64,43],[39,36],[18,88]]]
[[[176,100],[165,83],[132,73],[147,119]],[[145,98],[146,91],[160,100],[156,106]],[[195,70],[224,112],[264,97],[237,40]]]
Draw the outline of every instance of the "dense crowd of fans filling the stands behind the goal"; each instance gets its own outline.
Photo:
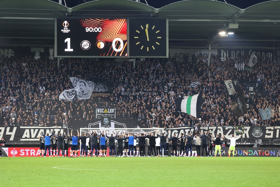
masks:
[[[116,108],[118,121],[132,120],[142,127],[279,126],[276,109],[279,110],[280,101],[280,68],[269,59],[259,59],[252,71],[235,70],[236,61],[248,65],[249,59],[245,55],[221,61],[219,56],[213,56],[207,66],[202,56],[186,57],[182,62],[175,58],[146,58],[137,59],[134,68],[132,62],[114,59],[65,58],[58,66],[55,60],[2,56],[0,122],[3,126],[84,125],[98,121],[95,109],[105,107]],[[60,101],[59,94],[73,88],[69,77],[104,83],[113,91],[88,100]],[[245,87],[262,88],[258,90],[261,94],[244,90],[248,104],[244,116],[232,115],[230,106],[234,97],[229,98],[223,86],[223,81],[229,79],[238,79]],[[195,81],[201,83],[195,88],[188,87]],[[203,93],[201,121],[176,110],[176,98],[200,92]],[[268,106],[275,110],[274,118],[263,121],[259,108]]]

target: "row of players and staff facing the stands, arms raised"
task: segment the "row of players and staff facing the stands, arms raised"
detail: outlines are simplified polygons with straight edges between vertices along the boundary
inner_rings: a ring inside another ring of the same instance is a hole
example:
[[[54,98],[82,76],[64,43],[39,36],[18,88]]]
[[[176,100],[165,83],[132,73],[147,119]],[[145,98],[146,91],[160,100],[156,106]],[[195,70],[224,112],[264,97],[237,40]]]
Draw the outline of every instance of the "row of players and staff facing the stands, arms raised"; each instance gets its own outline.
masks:
[[[73,130],[72,130],[73,131]],[[110,136],[107,136],[107,131],[104,132],[102,131],[100,135],[98,135],[95,131],[92,132],[91,134],[85,134],[83,133],[82,136],[79,135],[78,131],[78,136],[74,134],[72,135],[71,131],[71,136],[66,135],[64,133],[64,136],[59,134],[59,136],[53,136],[51,138],[52,141],[52,148],[51,151],[49,150],[49,156],[50,153],[52,153],[53,156],[59,157],[60,155],[60,150],[62,151],[62,157],[64,155],[68,157],[68,143],[69,140],[72,140],[73,138],[76,138],[77,140],[81,140],[81,150],[80,150],[80,157],[84,156],[87,157],[95,155],[96,157],[101,156],[105,157],[106,156],[106,143],[109,141],[109,149],[110,149],[110,156],[111,157],[133,157],[133,156],[138,156],[139,157],[150,157],[152,155],[153,157],[153,152],[155,156],[157,155],[158,157],[162,155],[167,157],[168,151],[169,151],[169,143],[172,143],[172,157],[177,157],[177,147],[178,147],[178,142],[180,142],[180,153],[179,156],[184,156],[186,153],[186,157],[188,157],[188,152],[190,151],[190,157],[192,157],[192,146],[193,146],[193,140],[195,140],[195,146],[197,150],[197,157],[200,157],[200,151],[202,147],[202,154],[201,157],[203,157],[203,149],[205,148],[206,156],[209,156],[209,153],[211,154],[211,141],[213,137],[211,137],[210,134],[203,133],[203,135],[192,135],[192,132],[188,134],[188,136],[185,136],[185,134],[181,133],[180,138],[176,137],[176,134],[173,135],[172,138],[168,138],[168,131],[167,135],[164,136],[164,133],[162,133],[162,136],[158,135],[158,132],[155,131],[155,136],[153,133],[141,133],[139,135],[137,134],[132,134],[132,133],[123,133],[123,135],[118,135],[118,131],[116,133],[111,133]],[[115,135],[115,136],[114,136]],[[208,136],[209,135],[209,136]],[[160,146],[156,146],[156,139],[160,139]],[[87,140],[88,139],[88,140]],[[136,150],[136,140],[138,139],[138,145],[139,145],[139,151]],[[148,154],[145,153],[145,144],[146,144],[146,139],[148,139]],[[209,144],[207,143],[207,139],[209,140]],[[216,138],[215,138],[216,139]],[[219,139],[219,138],[218,138]],[[115,140],[117,142],[117,152],[116,152],[116,147],[115,147]],[[214,140],[214,139],[213,139]],[[44,135],[40,137],[40,156],[42,156],[42,152],[44,150],[44,157],[46,157],[46,146],[45,146],[45,138]],[[73,142],[72,142],[73,144]],[[209,146],[208,146],[209,145]],[[78,146],[78,145],[77,145]],[[207,148],[209,150],[207,150]],[[58,149],[58,151],[57,151]],[[216,148],[217,149],[217,148]],[[76,150],[73,152],[73,150]],[[75,145],[71,146],[71,152],[70,152],[70,157],[77,157],[78,156],[78,148],[75,148]],[[219,148],[220,150],[220,148]],[[95,154],[93,154],[93,151],[95,151]],[[209,152],[208,152],[209,151]],[[74,154],[73,154],[74,153]],[[163,154],[164,153],[164,154]]]

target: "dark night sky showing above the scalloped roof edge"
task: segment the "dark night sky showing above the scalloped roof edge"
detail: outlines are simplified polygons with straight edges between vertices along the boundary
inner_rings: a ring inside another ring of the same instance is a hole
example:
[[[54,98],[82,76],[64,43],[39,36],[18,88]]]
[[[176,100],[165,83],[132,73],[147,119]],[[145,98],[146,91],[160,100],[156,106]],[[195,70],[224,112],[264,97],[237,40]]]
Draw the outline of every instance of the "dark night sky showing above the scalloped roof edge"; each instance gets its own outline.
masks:
[[[55,1],[58,3],[59,0],[51,0],[51,1]],[[89,2],[92,0],[65,0],[66,1],[66,5],[67,7],[74,7],[77,6],[79,4],[85,3],[85,2]],[[131,1],[135,1],[135,0],[131,0]],[[154,8],[161,8],[165,5],[171,4],[171,3],[175,3],[178,2],[180,0],[146,0],[148,5],[154,7]],[[261,2],[265,2],[265,1],[269,1],[269,0],[218,0],[221,2],[227,2],[228,4],[234,5],[238,8],[248,8],[252,5],[261,3]],[[141,3],[145,3],[145,0],[140,0]],[[62,0],[62,4],[64,5],[64,0]]]

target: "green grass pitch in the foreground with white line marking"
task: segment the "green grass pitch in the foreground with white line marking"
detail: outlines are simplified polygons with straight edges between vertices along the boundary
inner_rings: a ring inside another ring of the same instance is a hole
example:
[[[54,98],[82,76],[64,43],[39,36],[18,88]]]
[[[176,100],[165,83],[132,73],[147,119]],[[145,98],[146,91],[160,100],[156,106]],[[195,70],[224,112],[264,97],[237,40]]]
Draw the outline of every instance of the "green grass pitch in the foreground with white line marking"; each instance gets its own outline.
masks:
[[[1,186],[279,186],[277,157],[1,157]]]

